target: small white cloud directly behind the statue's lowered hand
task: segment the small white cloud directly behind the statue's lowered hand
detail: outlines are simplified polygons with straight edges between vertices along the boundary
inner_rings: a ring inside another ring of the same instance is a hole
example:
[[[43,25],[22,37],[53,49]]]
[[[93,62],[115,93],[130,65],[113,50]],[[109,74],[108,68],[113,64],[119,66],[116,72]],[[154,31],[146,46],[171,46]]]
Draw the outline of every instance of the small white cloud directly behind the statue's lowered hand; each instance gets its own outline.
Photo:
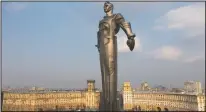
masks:
[[[126,35],[117,36],[118,52],[131,52],[126,42],[127,42]],[[142,51],[142,49],[141,49],[140,39],[137,36],[135,37],[135,48],[133,52],[140,52],[140,51]]]

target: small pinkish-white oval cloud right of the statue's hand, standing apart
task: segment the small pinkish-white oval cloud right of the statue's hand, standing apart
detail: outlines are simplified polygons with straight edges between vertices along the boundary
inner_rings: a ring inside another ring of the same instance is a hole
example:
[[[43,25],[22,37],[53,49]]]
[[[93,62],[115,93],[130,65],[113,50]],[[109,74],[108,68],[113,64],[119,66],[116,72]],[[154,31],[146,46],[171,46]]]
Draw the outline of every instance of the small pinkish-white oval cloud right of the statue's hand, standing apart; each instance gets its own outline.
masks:
[[[182,55],[182,51],[177,47],[163,46],[152,51],[150,54],[152,54],[155,59],[177,60]]]

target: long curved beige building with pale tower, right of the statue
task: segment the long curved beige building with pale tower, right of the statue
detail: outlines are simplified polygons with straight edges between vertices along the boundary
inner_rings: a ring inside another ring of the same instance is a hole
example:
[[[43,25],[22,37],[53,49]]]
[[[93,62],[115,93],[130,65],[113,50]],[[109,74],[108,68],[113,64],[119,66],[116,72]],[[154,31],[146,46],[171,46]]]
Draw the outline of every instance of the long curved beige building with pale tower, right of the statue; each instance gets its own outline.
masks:
[[[130,82],[123,84],[124,110],[204,111],[205,96],[169,92],[134,91]]]

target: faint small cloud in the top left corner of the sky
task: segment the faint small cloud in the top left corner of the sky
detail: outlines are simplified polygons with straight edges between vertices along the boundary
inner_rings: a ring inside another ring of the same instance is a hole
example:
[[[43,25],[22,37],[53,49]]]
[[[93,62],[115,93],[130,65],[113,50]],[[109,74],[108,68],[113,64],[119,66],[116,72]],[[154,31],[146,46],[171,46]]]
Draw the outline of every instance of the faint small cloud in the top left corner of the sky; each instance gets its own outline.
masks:
[[[25,2],[9,2],[3,5],[3,8],[8,12],[18,12],[24,10],[28,6]]]

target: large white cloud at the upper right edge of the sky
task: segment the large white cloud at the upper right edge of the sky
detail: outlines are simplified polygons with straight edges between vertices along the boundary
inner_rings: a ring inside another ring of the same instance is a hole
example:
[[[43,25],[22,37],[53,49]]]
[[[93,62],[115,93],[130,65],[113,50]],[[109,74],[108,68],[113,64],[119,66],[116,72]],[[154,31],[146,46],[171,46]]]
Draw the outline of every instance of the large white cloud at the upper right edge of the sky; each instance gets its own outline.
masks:
[[[195,3],[172,9],[156,20],[155,29],[183,31],[187,37],[205,35],[205,5]]]

